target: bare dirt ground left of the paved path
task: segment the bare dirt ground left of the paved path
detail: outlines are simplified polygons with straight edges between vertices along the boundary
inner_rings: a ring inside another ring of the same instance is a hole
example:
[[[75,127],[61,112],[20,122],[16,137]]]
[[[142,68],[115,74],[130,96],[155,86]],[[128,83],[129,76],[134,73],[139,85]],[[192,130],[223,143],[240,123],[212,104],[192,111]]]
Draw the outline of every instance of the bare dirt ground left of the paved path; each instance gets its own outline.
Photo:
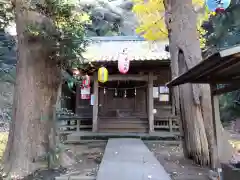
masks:
[[[86,179],[89,177],[95,179],[105,146],[106,141],[65,145],[64,149],[71,165],[66,168],[39,170],[23,180],[55,180],[55,177],[59,176],[81,176],[88,177]]]

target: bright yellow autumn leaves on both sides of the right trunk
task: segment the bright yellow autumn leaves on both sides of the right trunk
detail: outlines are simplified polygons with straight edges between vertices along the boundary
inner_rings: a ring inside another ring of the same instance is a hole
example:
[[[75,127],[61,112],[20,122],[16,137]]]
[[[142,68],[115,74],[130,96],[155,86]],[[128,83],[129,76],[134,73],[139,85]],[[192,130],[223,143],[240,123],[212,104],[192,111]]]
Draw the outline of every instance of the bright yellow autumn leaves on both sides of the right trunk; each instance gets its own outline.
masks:
[[[165,24],[164,0],[134,0],[134,2],[133,11],[140,22],[140,26],[136,29],[136,32],[151,41],[167,39],[168,30]],[[192,0],[192,3],[194,11],[198,15],[197,27],[201,46],[204,47],[205,38],[202,38],[202,35],[205,33],[205,30],[201,25],[203,21],[209,18],[211,13],[206,8],[204,0]]]

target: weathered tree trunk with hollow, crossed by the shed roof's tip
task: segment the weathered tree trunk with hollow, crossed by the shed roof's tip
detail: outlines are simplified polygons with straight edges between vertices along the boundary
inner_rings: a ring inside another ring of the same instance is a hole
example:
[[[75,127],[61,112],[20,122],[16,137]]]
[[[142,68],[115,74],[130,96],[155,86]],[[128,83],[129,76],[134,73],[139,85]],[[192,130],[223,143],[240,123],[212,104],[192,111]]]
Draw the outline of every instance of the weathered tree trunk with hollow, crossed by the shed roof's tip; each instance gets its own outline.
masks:
[[[202,60],[192,0],[165,0],[172,78]],[[201,165],[210,163],[215,143],[209,85],[184,84],[174,88],[176,112],[184,130],[186,155]]]

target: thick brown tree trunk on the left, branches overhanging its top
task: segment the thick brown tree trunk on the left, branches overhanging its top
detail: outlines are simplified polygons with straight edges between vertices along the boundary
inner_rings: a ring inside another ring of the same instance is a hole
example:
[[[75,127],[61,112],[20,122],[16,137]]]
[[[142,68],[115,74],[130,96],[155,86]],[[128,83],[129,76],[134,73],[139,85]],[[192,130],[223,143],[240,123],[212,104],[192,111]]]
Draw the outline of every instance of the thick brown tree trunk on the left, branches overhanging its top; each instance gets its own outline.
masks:
[[[50,58],[49,45],[44,40],[29,41],[26,27],[34,22],[34,16],[26,10],[26,4],[16,1],[17,77],[4,154],[4,172],[20,177],[46,167],[46,161],[40,159],[46,159],[55,148],[53,108],[60,83],[60,68]]]

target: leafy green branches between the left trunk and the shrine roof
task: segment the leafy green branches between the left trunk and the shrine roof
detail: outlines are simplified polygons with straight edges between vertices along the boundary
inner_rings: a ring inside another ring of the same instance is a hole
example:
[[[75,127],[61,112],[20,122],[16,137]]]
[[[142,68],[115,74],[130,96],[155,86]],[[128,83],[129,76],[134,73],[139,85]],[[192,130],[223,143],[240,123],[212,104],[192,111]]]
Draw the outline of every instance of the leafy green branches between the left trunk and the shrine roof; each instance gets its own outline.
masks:
[[[32,10],[43,14],[51,20],[47,24],[31,24],[28,27],[32,36],[44,38],[48,41],[63,68],[83,68],[84,52],[87,45],[85,25],[90,23],[83,11],[75,10],[74,5],[64,0],[45,0],[45,4],[36,3]]]

